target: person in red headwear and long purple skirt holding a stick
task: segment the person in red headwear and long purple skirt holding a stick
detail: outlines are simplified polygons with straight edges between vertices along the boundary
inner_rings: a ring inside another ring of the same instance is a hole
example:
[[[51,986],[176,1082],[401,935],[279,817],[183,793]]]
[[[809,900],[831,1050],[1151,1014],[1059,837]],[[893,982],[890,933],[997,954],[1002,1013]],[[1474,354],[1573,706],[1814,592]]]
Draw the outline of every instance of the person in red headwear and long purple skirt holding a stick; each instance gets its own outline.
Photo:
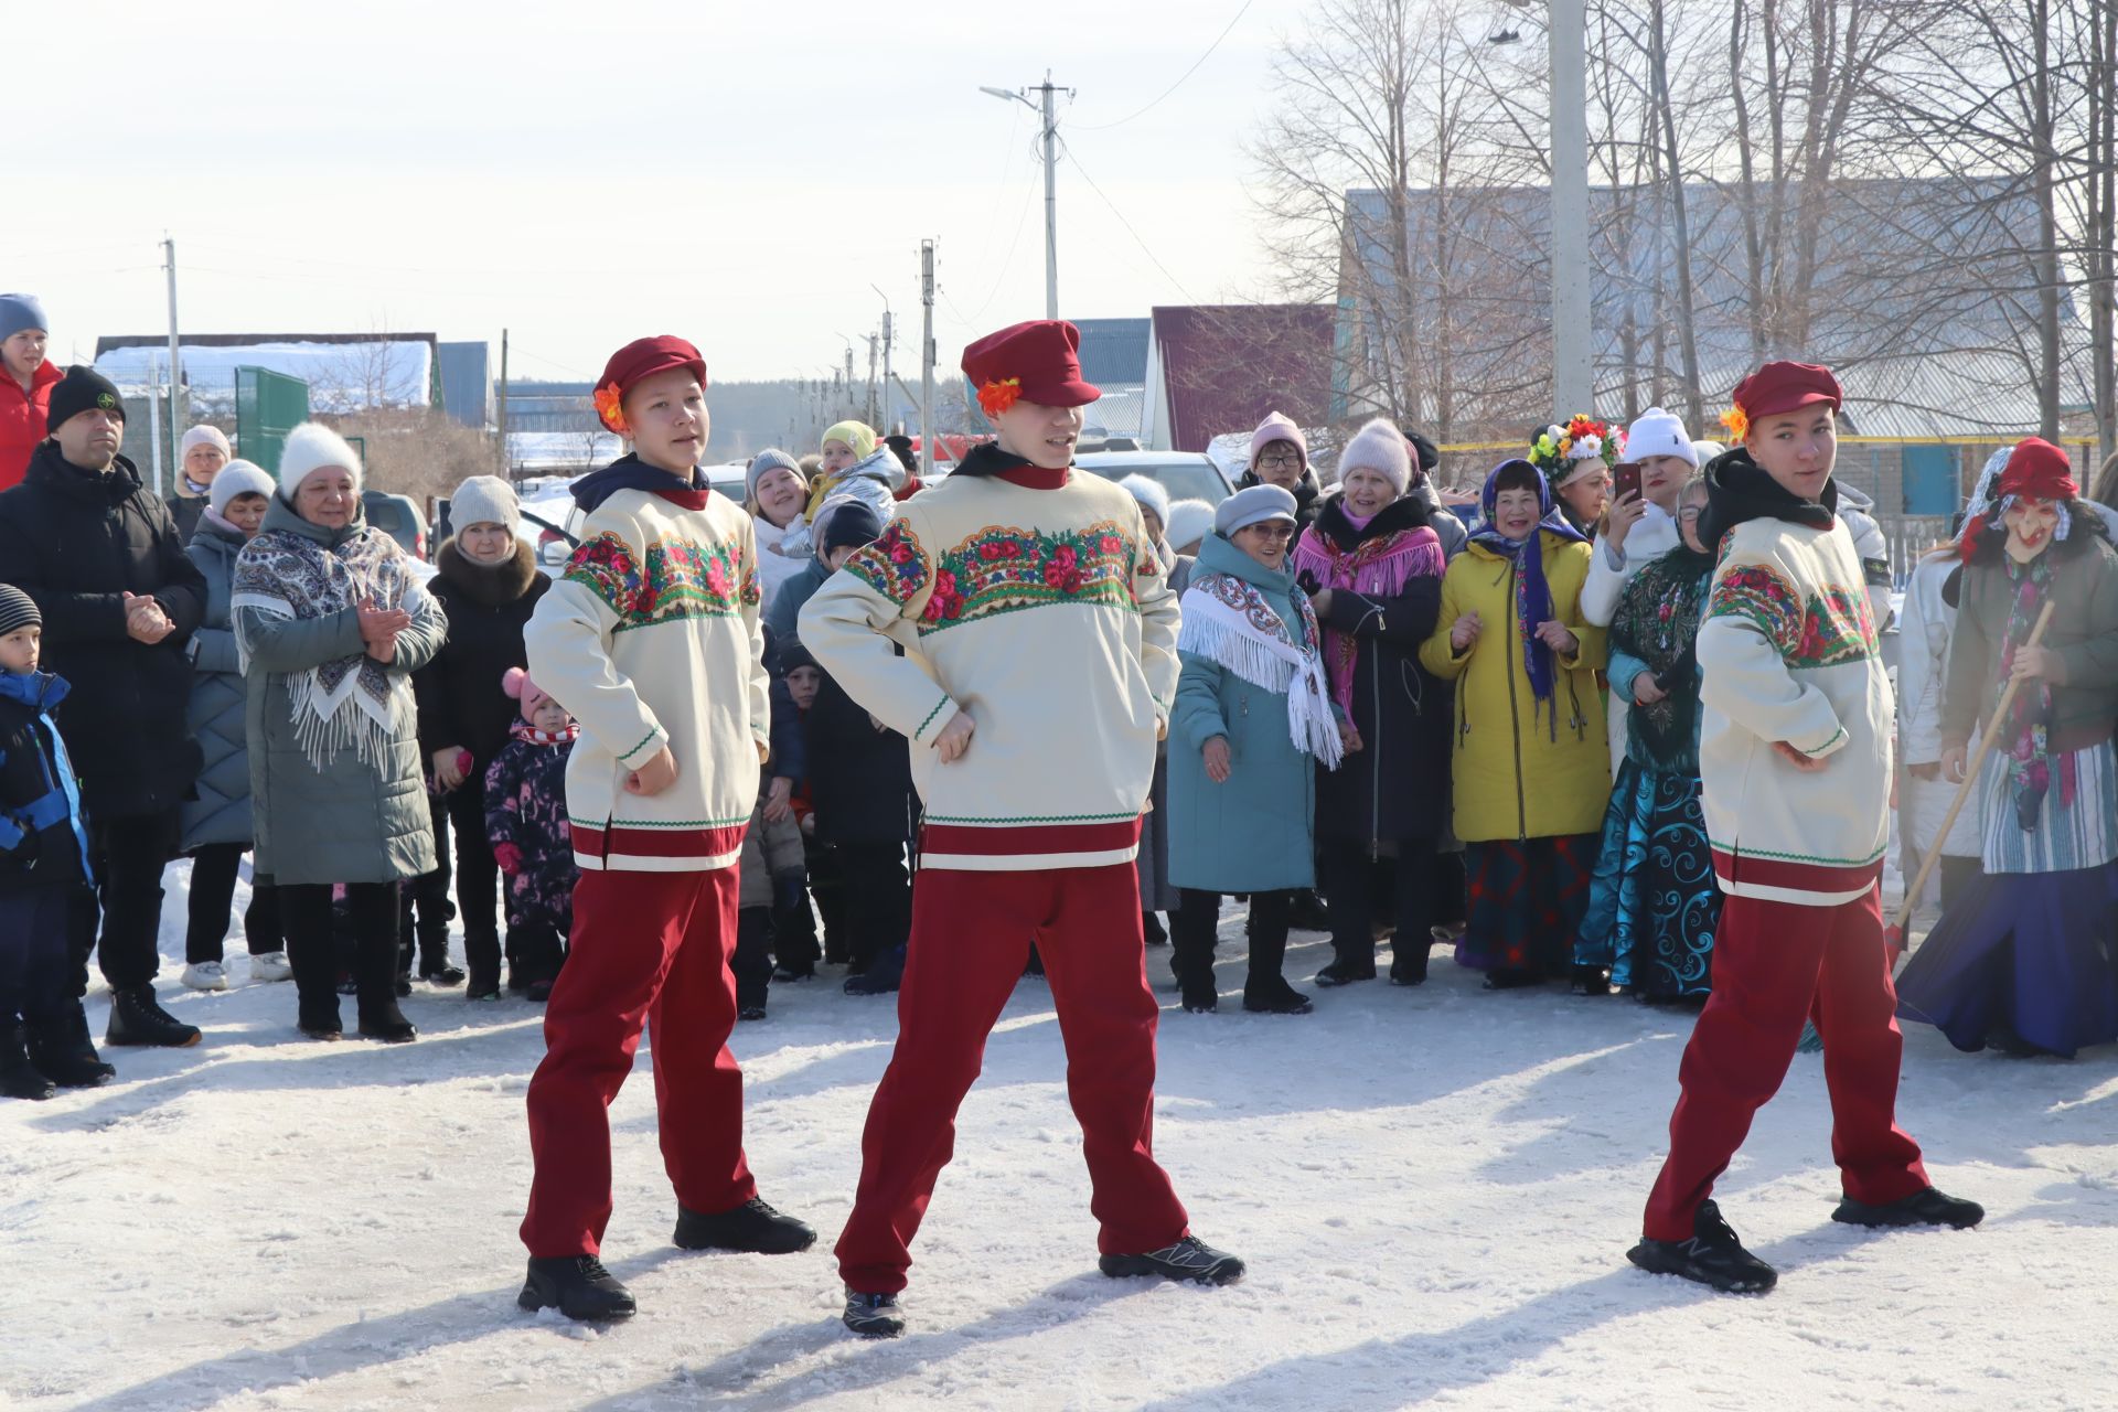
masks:
[[[1942,779],[1963,781],[1972,726],[2002,722],[1976,783],[1980,874],[1913,953],[1898,1014],[1959,1050],[2071,1058],[2118,1039],[2118,555],[2071,472],[2052,442],[2021,442],[1972,500],[1942,586]]]

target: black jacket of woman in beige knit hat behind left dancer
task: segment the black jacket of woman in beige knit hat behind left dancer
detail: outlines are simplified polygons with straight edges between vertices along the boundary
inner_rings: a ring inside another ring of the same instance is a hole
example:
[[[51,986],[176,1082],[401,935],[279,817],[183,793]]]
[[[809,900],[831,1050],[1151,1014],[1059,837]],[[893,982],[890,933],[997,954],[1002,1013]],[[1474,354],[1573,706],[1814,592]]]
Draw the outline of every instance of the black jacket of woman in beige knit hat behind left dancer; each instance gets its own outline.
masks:
[[[434,569],[428,589],[449,614],[449,641],[411,680],[419,696],[419,754],[432,764],[436,749],[468,749],[474,777],[485,779],[521,718],[521,703],[500,690],[500,677],[508,667],[530,665],[523,624],[551,580],[523,538],[515,540],[515,557],[493,567],[472,563],[453,538],[443,540]]]

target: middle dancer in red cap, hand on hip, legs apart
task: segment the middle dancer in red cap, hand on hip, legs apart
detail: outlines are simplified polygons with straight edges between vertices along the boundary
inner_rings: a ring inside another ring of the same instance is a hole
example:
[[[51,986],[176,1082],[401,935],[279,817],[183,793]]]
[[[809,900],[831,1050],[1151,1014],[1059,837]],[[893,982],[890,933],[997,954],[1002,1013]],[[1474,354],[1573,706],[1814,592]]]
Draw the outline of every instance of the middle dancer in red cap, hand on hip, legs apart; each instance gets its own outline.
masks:
[[[862,1135],[839,1236],[845,1323],[904,1329],[896,1296],[955,1109],[1029,944],[1059,1012],[1106,1274],[1226,1285],[1154,1162],[1154,1020],[1139,923],[1139,817],[1178,686],[1178,605],[1137,502],[1072,470],[1072,324],[964,351],[1000,432],[898,510],[801,614],[803,646],[913,743],[926,804],[898,1046]]]

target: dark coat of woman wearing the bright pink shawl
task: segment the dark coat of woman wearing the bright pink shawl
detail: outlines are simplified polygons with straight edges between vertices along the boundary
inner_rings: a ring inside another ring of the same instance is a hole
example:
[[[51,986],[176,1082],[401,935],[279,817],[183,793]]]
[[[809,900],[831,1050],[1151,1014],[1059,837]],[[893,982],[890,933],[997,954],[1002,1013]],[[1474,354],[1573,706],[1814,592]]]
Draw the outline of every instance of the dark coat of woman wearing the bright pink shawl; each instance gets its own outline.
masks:
[[[1366,529],[1353,529],[1339,497],[1332,497],[1309,533],[1330,536],[1341,548],[1353,548],[1425,523],[1425,504],[1406,495],[1368,521]],[[1351,633],[1360,644],[1353,726],[1362,749],[1336,771],[1317,771],[1320,838],[1370,845],[1428,840],[1438,838],[1449,823],[1455,690],[1419,665],[1419,644],[1434,633],[1440,605],[1440,578],[1415,578],[1392,599],[1366,599],[1345,589],[1332,593],[1324,627]]]

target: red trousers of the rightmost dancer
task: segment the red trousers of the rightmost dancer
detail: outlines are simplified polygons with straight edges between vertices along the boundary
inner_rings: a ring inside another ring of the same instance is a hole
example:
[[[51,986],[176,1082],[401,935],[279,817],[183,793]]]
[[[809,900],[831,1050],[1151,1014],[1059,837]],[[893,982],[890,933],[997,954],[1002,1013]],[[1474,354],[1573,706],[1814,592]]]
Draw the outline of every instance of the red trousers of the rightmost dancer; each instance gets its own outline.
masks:
[[[1832,1158],[1845,1194],[1881,1205],[1927,1185],[1919,1143],[1896,1120],[1904,1035],[1881,891],[1832,908],[1728,898],[1713,938],[1713,995],[1684,1046],[1684,1097],[1648,1196],[1650,1241],[1692,1236],[1713,1179],[1788,1078],[1802,1020],[1824,1037]]]

